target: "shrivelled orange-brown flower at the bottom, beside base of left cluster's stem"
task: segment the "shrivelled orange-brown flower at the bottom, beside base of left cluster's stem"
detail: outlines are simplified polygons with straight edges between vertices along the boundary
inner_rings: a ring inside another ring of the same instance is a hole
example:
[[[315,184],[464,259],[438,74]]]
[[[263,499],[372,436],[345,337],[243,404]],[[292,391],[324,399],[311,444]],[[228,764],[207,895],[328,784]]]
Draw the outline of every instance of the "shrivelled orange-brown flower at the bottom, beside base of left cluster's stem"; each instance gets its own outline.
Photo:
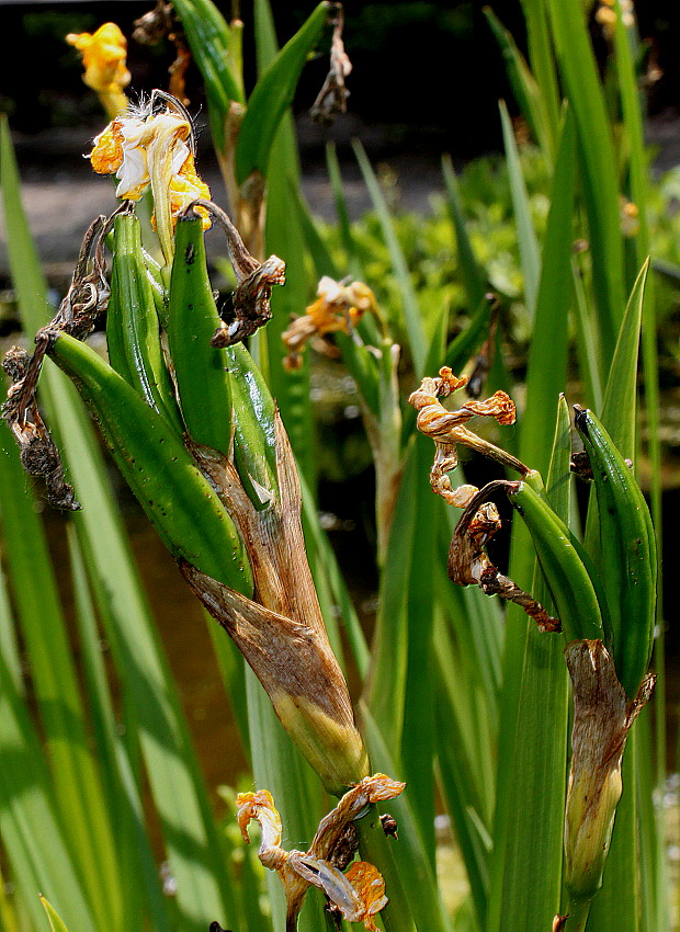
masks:
[[[390,780],[385,774],[366,776],[348,791],[336,808],[319,823],[316,836],[305,852],[285,851],[281,848],[281,817],[271,793],[241,793],[237,796],[238,823],[247,842],[248,825],[260,823],[262,830],[259,857],[270,871],[276,871],[286,895],[286,930],[296,928],[297,916],[310,886],[326,894],[333,910],[348,922],[363,922],[364,928],[377,932],[374,917],[387,905],[385,882],[372,864],[354,861],[343,873],[338,859],[338,848],[345,844],[348,828],[362,816],[367,806],[394,799],[406,784]],[[353,856],[353,851],[352,855]]]

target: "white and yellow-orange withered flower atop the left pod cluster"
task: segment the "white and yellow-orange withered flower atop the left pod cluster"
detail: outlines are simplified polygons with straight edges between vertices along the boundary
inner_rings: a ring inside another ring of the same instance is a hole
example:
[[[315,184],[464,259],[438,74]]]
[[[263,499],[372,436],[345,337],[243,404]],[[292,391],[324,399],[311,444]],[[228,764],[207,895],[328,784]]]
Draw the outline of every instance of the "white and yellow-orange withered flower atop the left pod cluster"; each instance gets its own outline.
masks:
[[[156,110],[159,98],[167,102],[163,111]],[[155,92],[148,104],[129,107],[100,133],[90,161],[100,174],[116,175],[117,197],[138,201],[151,187],[158,237],[170,263],[175,218],[193,201],[207,201],[211,196],[207,184],[196,174],[193,130],[183,106],[173,98]],[[207,213],[201,207],[197,212],[207,229]]]

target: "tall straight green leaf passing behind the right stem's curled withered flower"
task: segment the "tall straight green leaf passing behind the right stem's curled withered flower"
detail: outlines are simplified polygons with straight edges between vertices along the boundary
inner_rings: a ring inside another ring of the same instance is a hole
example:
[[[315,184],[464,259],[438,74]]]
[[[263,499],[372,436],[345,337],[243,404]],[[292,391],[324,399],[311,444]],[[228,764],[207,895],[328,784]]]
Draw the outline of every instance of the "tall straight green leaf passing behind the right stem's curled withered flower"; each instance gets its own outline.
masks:
[[[557,401],[566,388],[574,129],[567,113],[553,178],[520,436],[520,458],[543,471],[551,456],[548,437],[556,432]],[[568,510],[562,516],[568,521]],[[530,588],[532,548],[517,524],[510,576]],[[567,724],[563,646],[560,638],[541,635],[519,612],[508,612],[488,932],[549,928],[559,911]],[[528,885],[526,871],[536,856],[543,868]]]

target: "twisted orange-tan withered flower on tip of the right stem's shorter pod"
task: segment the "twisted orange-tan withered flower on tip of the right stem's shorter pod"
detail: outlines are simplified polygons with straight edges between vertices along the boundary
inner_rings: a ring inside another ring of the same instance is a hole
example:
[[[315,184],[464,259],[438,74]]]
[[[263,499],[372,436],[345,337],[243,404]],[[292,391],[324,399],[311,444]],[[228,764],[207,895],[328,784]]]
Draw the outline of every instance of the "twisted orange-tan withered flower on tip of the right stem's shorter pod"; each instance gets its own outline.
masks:
[[[465,427],[474,417],[494,418],[501,425],[513,424],[514,404],[505,391],[497,391],[486,401],[476,401],[471,398],[457,411],[447,411],[441,404],[440,398],[445,398],[466,384],[466,377],[457,377],[449,366],[443,366],[439,371],[439,377],[423,378],[420,388],[408,399],[418,411],[416,421],[418,430],[431,437],[437,447],[434,463],[430,470],[432,489],[455,508],[465,508],[477,491],[474,486],[462,486],[456,490],[451,487],[451,480],[446,474],[458,464],[456,451],[458,444],[489,456],[523,476],[531,471],[514,456],[483,440]]]

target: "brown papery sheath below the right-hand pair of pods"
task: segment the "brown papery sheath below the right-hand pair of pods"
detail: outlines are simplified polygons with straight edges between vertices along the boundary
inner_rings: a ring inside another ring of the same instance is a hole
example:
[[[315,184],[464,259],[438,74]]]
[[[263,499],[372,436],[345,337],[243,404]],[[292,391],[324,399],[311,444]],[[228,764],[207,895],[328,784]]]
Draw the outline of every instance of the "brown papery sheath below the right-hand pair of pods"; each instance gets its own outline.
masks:
[[[601,640],[578,640],[566,651],[574,686],[571,769],[565,817],[566,885],[576,901],[590,900],[602,885],[616,805],[621,762],[631,726],[654,690],[643,680],[630,701]]]

